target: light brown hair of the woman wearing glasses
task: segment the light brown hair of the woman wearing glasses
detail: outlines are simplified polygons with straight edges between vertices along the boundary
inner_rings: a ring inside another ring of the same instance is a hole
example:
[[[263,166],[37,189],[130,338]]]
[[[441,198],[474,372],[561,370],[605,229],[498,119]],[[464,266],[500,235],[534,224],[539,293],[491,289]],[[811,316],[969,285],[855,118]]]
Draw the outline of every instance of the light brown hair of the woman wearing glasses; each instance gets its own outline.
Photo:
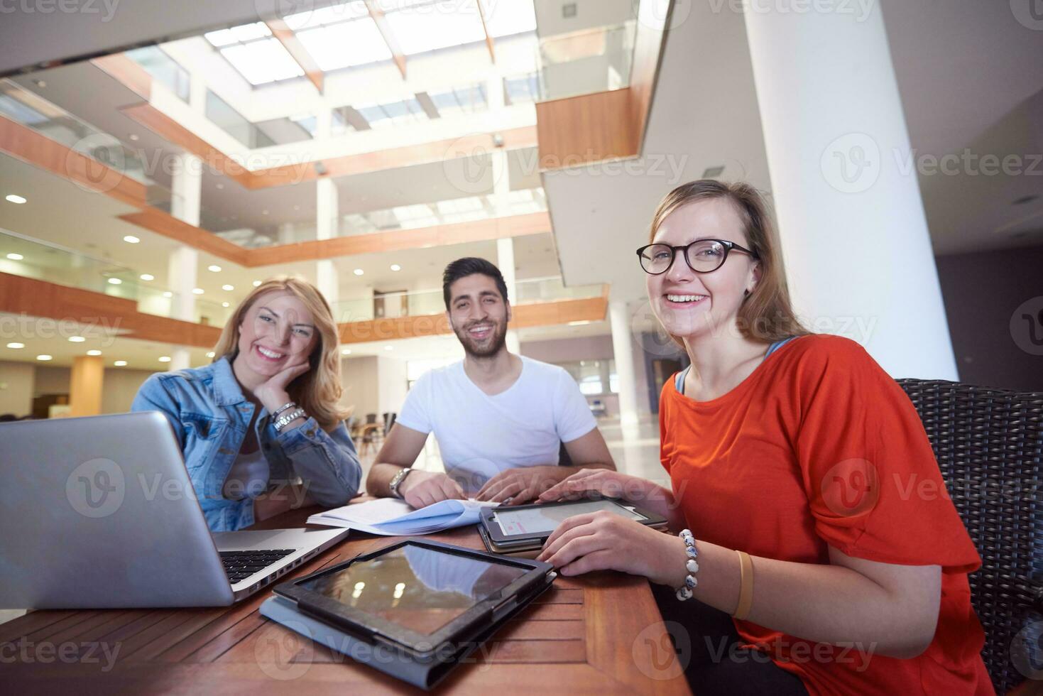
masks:
[[[649,243],[655,241],[663,220],[681,206],[697,200],[723,198],[738,214],[749,248],[760,262],[760,280],[753,291],[743,299],[735,322],[746,338],[772,343],[791,336],[805,336],[805,329],[790,302],[785,270],[778,250],[778,238],[768,213],[763,196],[749,184],[726,184],[712,178],[689,182],[666,194],[652,216]],[[672,336],[675,342],[683,342]]]

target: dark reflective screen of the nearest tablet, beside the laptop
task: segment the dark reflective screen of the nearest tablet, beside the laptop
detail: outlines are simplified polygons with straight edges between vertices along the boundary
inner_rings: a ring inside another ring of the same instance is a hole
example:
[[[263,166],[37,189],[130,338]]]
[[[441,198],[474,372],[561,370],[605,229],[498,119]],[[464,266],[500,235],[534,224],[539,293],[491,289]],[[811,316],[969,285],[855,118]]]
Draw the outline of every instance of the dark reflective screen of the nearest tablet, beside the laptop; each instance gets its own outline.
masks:
[[[428,635],[527,572],[407,544],[300,586]]]

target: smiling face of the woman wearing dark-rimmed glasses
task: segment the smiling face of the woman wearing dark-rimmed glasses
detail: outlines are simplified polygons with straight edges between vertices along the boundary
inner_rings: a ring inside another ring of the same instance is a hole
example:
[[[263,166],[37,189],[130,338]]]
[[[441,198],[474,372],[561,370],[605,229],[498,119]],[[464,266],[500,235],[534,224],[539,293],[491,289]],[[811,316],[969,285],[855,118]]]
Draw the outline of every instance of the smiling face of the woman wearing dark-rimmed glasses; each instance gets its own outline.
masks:
[[[662,221],[652,241],[684,246],[697,239],[750,247],[742,220],[724,198],[680,206]],[[665,272],[646,277],[646,288],[663,329],[673,336],[696,338],[733,323],[745,291],[752,291],[758,278],[759,264],[739,251],[731,251],[724,265],[709,273],[692,270],[678,251]]]

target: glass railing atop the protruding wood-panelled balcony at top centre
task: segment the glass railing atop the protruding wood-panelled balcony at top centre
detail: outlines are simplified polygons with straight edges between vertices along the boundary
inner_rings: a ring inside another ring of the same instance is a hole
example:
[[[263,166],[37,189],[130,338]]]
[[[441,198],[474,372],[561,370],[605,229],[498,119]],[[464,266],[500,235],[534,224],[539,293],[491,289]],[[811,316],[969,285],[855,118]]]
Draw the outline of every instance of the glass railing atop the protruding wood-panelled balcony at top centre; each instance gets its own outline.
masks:
[[[562,99],[630,85],[636,20],[539,40],[540,99]]]

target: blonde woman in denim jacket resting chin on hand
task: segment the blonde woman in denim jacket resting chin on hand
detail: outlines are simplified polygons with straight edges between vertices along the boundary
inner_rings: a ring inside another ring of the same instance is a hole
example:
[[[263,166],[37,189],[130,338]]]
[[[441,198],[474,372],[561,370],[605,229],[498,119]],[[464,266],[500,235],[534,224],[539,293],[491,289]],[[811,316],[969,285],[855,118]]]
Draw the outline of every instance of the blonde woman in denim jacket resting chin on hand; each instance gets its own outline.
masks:
[[[212,531],[357,495],[337,341],[319,291],[278,275],[236,308],[212,364],[152,375],[138,391],[131,410],[160,411],[173,426]]]

